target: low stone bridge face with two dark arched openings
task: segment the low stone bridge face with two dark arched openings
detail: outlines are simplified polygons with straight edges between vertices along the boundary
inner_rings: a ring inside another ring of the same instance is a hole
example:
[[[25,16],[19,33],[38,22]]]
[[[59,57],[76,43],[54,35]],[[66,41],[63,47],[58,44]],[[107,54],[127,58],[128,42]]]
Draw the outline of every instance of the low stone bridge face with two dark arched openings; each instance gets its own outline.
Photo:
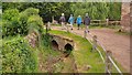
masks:
[[[52,36],[51,46],[53,50],[62,52],[72,51],[74,49],[74,41],[64,36],[50,34]]]

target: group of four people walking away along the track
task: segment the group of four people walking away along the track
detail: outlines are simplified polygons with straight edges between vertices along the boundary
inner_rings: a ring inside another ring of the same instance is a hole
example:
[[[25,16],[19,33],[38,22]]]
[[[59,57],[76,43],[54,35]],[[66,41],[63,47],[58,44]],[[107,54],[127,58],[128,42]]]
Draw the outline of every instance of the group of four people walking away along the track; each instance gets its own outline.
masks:
[[[62,17],[61,17],[59,21],[62,23],[62,29],[65,29],[66,28],[66,25],[65,25],[66,19],[65,19],[64,13],[62,13]],[[78,15],[77,19],[76,19],[76,21],[75,21],[74,15],[70,14],[70,17],[68,19],[68,23],[70,24],[70,29],[72,30],[73,30],[73,25],[74,25],[75,22],[77,23],[78,30],[79,30],[81,23],[84,23],[86,25],[86,32],[89,32],[88,26],[90,24],[90,18],[88,17],[88,13],[86,13],[84,20],[81,19],[80,15]]]

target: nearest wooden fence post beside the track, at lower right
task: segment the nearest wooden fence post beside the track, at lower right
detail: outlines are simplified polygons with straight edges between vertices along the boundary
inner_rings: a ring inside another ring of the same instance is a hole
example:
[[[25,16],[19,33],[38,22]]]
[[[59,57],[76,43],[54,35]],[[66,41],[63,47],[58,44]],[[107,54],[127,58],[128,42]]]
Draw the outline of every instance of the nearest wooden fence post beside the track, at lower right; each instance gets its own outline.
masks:
[[[112,71],[112,63],[109,60],[109,56],[112,56],[111,51],[107,51],[107,55],[106,55],[106,73],[111,73],[111,71]]]

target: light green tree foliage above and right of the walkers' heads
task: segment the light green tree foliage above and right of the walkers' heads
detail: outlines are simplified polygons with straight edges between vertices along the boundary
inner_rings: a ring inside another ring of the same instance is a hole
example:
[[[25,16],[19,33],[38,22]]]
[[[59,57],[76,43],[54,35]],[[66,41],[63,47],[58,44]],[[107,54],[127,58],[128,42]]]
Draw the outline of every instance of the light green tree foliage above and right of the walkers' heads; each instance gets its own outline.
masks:
[[[85,17],[86,13],[94,20],[105,20],[108,17],[109,7],[106,2],[84,2],[73,3],[75,17]]]

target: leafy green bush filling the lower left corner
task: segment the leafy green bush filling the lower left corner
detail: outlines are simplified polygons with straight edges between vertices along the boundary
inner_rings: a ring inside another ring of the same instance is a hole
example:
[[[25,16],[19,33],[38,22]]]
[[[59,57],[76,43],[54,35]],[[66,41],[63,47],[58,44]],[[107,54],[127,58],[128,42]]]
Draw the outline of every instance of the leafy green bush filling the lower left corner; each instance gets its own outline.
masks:
[[[3,41],[2,44],[3,73],[33,73],[37,69],[35,50],[21,38]]]

